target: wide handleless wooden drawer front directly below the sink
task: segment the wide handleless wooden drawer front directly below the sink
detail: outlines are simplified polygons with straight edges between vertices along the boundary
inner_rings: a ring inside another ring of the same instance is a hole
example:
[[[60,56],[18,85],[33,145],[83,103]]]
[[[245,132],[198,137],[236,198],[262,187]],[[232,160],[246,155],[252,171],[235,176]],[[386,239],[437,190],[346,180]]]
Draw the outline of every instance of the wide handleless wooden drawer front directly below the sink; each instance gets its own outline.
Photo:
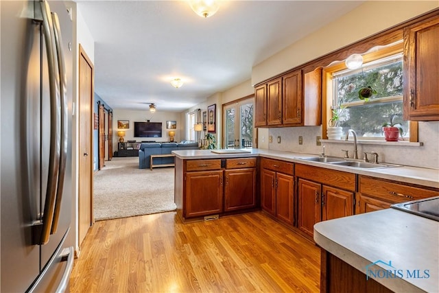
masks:
[[[341,189],[355,191],[355,174],[353,173],[296,164],[296,176]]]

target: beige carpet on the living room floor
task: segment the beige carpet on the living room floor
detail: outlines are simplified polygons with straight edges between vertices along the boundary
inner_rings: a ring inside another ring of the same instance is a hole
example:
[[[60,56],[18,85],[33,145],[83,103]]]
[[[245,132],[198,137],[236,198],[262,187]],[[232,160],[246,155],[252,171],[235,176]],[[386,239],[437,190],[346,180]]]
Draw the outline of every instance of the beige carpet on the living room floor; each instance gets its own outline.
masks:
[[[138,157],[113,158],[95,173],[95,220],[174,211],[174,168],[139,169]]]

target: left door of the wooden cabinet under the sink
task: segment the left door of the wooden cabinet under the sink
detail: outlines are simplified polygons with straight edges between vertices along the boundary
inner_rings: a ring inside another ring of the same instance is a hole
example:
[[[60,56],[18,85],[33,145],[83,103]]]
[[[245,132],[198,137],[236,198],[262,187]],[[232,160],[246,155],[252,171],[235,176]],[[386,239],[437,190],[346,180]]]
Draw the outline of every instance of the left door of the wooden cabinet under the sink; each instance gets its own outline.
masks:
[[[313,237],[313,226],[321,219],[321,185],[308,180],[298,180],[298,228]]]

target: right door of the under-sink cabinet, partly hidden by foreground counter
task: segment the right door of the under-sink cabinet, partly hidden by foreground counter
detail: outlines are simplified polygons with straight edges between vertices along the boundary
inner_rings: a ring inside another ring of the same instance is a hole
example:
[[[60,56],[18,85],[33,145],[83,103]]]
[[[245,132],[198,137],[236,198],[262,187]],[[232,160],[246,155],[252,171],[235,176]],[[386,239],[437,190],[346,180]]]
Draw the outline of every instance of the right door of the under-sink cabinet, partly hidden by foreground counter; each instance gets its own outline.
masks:
[[[323,186],[322,220],[332,220],[354,214],[354,194],[350,191]]]

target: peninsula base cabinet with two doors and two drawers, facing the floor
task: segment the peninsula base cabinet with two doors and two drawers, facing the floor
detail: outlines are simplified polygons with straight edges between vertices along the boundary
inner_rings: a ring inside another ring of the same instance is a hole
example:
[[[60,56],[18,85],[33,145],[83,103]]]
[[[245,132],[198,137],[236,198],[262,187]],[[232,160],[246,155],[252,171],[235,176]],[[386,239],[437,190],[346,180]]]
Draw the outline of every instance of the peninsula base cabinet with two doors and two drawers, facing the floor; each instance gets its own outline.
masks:
[[[176,157],[175,202],[183,221],[259,207],[257,158],[182,160]]]

